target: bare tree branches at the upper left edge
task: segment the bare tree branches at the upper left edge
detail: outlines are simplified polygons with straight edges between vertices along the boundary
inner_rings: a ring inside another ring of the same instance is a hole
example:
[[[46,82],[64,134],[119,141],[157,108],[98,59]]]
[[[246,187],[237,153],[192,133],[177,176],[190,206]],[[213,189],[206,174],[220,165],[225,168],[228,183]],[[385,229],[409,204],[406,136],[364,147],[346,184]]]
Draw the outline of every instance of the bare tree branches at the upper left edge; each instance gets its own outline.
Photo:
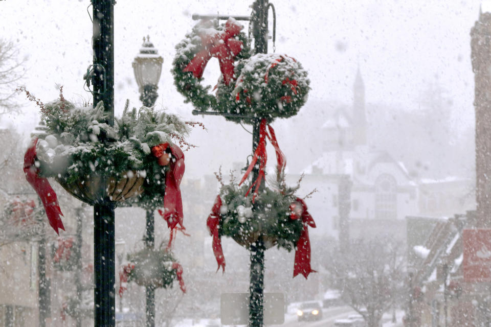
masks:
[[[0,39],[0,115],[18,111],[13,100],[15,88],[25,74],[25,59],[19,59],[19,50],[12,41]]]

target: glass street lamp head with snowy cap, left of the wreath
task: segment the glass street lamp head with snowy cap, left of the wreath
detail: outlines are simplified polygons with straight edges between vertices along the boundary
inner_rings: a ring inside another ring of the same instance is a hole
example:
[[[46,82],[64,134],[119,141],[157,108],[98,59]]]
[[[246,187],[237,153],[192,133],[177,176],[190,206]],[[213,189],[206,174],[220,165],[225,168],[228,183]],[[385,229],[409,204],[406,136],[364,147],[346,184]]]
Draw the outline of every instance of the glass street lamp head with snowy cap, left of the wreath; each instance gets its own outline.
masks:
[[[140,53],[135,57],[132,66],[140,91],[140,101],[146,107],[153,106],[159,96],[157,84],[159,84],[163,63],[164,59],[158,55],[157,49],[153,47],[150,36],[147,36],[146,40],[143,37],[142,48],[140,48]]]

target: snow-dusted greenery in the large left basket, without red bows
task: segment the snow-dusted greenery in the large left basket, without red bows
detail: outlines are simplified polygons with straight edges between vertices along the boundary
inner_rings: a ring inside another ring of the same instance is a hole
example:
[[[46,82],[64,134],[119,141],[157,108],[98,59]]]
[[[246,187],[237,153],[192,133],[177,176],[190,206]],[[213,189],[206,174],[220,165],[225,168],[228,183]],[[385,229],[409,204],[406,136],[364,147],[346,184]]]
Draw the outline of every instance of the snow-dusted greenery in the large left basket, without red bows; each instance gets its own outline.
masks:
[[[151,147],[174,142],[188,150],[194,147],[185,141],[188,125],[203,127],[153,107],[129,109],[129,101],[122,116],[109,126],[102,101],[95,107],[76,105],[63,98],[60,88],[59,99],[43,104],[26,89],[19,90],[40,107],[47,127],[36,146],[36,166],[41,176],[62,177],[72,183],[93,173],[123,177],[136,172],[146,177],[144,192],[138,199],[143,207],[161,206],[165,194],[163,178],[168,167],[159,166],[150,153]]]

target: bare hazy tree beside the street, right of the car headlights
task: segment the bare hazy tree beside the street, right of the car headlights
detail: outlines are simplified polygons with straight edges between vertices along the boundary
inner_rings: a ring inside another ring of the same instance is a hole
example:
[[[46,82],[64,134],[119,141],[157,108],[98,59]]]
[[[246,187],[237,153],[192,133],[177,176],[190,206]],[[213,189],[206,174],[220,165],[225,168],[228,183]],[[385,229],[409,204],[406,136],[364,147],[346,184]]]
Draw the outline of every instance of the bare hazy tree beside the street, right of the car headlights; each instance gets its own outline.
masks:
[[[390,238],[352,240],[349,245],[331,252],[328,271],[333,286],[368,327],[378,327],[384,312],[404,292],[402,246]]]

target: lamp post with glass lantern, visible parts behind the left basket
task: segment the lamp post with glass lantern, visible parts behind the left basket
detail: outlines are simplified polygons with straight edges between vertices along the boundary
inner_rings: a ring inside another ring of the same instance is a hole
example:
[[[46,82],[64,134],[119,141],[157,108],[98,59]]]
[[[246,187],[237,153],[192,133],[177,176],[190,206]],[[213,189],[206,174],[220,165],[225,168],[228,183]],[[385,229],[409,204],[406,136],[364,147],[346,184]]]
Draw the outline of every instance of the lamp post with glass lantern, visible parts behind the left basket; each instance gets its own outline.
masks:
[[[140,53],[135,57],[133,61],[133,73],[135,73],[135,79],[140,90],[140,100],[145,107],[151,107],[155,104],[155,100],[159,96],[157,93],[162,73],[162,63],[164,59],[158,55],[157,49],[153,47],[150,42],[150,37],[147,36],[146,40],[143,38],[143,45],[140,49]],[[154,208],[147,209],[146,225],[145,225],[145,247],[153,249],[154,246]],[[155,326],[155,288],[152,286],[145,287],[146,298],[146,327]]]

